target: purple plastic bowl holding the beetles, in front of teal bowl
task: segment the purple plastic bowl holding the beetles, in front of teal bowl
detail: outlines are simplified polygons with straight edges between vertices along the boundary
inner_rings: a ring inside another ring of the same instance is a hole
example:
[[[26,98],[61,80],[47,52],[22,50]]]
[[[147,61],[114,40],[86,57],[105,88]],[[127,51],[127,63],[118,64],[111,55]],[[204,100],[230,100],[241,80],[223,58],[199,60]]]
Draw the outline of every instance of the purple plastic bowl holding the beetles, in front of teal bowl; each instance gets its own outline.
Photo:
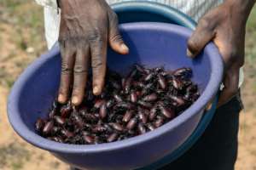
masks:
[[[40,137],[34,130],[36,119],[46,116],[59,86],[61,58],[52,49],[30,65],[19,77],[9,95],[8,113],[15,131],[27,142],[48,150],[62,161],[86,169],[135,169],[170,155],[193,133],[207,102],[218,92],[223,75],[223,61],[210,43],[196,59],[186,56],[186,42],[191,34],[182,26],[161,23],[131,23],[121,26],[121,33],[131,49],[121,56],[109,50],[108,66],[125,73],[134,63],[166,69],[183,66],[194,71],[201,97],[172,122],[131,139],[110,144],[61,144]]]

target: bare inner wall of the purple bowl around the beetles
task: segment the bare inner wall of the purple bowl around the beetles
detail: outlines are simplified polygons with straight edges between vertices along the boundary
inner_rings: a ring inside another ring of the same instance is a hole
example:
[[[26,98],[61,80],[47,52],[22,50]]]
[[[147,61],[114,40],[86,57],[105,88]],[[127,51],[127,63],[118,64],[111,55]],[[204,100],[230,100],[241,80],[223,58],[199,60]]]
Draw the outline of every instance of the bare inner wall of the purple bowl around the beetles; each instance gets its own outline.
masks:
[[[190,67],[194,71],[193,81],[199,85],[201,94],[204,93],[212,78],[213,45],[207,46],[196,59],[189,59],[186,56],[186,42],[191,31],[181,26],[160,23],[125,24],[121,26],[121,33],[130,48],[130,54],[119,55],[109,49],[108,66],[113,71],[125,74],[135,63],[147,67],[164,66],[166,70]],[[214,50],[217,51],[215,48]],[[25,71],[26,76],[22,75],[18,81],[19,85],[15,86],[15,91],[18,92],[15,94],[15,100],[19,118],[32,133],[37,118],[47,115],[55,99],[60,70],[59,53],[50,57],[43,56]],[[215,83],[218,84],[219,81]]]

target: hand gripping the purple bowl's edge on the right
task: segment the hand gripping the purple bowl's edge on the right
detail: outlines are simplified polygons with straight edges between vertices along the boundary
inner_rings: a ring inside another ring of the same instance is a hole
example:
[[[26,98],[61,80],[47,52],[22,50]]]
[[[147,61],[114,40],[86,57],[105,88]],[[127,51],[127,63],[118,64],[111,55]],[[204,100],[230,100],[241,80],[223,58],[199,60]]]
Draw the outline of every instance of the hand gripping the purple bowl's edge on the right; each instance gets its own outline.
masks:
[[[217,45],[224,59],[224,89],[218,106],[238,91],[239,71],[244,64],[246,15],[231,3],[223,3],[205,14],[188,41],[188,55],[194,58],[208,42]]]

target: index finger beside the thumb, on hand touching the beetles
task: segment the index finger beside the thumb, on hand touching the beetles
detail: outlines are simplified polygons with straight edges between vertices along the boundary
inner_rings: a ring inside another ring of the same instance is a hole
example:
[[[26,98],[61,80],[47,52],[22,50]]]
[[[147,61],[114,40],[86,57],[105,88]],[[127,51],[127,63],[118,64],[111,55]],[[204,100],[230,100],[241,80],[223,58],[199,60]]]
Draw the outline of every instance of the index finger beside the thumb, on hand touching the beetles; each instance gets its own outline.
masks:
[[[98,36],[95,37],[93,41],[90,41],[92,88],[93,94],[95,95],[101,94],[104,86],[107,64],[107,44],[107,36]]]

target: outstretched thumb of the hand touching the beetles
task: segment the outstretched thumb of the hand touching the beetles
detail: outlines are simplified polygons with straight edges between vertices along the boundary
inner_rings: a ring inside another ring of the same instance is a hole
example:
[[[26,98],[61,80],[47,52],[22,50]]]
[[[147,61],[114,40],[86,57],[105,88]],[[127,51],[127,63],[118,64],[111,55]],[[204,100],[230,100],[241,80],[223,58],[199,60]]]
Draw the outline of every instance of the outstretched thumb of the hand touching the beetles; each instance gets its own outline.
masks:
[[[111,14],[109,19],[108,42],[111,48],[119,54],[128,54],[129,48],[125,45],[119,33],[118,18],[116,14]]]

